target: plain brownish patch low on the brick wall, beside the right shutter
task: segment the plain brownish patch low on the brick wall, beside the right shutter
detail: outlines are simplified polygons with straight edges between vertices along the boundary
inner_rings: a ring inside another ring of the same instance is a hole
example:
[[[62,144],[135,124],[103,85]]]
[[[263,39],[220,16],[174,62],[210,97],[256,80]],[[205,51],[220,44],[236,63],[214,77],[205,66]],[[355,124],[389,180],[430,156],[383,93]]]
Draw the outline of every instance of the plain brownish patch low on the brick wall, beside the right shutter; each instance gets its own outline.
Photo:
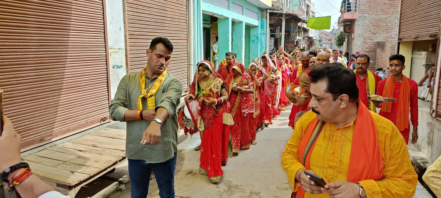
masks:
[[[389,56],[395,53],[396,41],[395,40],[376,41],[375,44],[376,44],[377,52],[376,52],[376,56],[370,56],[371,61],[372,61],[372,58],[375,57],[376,68],[388,67],[389,66]],[[370,66],[372,66],[372,64]],[[372,69],[375,69],[375,68],[372,68]]]

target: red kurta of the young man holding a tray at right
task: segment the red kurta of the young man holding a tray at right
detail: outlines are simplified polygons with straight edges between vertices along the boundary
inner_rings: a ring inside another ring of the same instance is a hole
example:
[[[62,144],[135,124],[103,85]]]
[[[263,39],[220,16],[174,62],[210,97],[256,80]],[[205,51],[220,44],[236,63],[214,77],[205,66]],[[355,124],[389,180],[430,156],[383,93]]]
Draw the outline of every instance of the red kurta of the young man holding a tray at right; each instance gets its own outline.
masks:
[[[409,85],[410,85],[410,114],[411,114],[411,123],[413,126],[418,126],[418,84],[410,79]],[[383,89],[385,87],[385,83],[387,81],[387,78],[381,80],[378,82],[377,86],[377,95],[382,96],[383,95]],[[401,88],[401,82],[395,81],[395,90],[393,92],[393,97],[396,98],[395,102],[392,102],[392,111],[390,113],[387,112],[381,112],[378,113],[380,116],[383,116],[387,118],[388,120],[392,121],[392,123],[396,123],[396,115],[398,112],[398,101],[400,100],[400,88]],[[406,144],[409,142],[409,133],[410,133],[410,124],[407,129],[404,129],[404,131],[400,131],[400,133],[403,135],[404,141]]]

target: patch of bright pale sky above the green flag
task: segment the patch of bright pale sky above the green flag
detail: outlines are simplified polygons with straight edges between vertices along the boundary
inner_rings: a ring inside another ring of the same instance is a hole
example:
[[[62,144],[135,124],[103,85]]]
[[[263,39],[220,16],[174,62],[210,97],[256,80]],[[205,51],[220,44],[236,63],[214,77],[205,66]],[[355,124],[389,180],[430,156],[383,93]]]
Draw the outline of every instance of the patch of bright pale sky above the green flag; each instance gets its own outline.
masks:
[[[312,0],[315,4],[315,16],[331,16],[331,29],[338,27],[338,18],[340,17],[341,0]],[[332,7],[332,6],[333,7]],[[335,8],[334,8],[335,7]],[[329,29],[329,30],[331,30]]]

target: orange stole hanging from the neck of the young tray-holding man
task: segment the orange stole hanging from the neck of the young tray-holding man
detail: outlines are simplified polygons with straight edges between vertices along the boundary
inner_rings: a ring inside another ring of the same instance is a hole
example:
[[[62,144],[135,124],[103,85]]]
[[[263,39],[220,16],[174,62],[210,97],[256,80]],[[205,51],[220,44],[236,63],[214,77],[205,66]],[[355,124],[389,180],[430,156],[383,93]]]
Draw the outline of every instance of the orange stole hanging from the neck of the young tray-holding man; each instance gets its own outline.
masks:
[[[395,91],[395,80],[392,76],[387,78],[385,87],[383,89],[383,97],[393,97]],[[399,131],[404,131],[409,127],[409,108],[410,108],[410,92],[411,86],[409,80],[403,75],[400,88],[400,98],[398,98],[398,112],[396,113],[395,125]],[[392,102],[383,102],[381,105],[382,112],[392,112]]]

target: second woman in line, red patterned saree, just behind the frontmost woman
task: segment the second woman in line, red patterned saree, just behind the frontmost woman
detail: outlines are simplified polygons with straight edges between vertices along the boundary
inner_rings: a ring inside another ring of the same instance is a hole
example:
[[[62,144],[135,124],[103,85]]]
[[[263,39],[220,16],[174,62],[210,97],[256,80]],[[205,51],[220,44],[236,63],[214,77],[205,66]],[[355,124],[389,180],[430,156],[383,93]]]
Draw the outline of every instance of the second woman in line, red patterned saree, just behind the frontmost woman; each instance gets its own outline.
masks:
[[[250,148],[251,134],[248,124],[254,113],[252,96],[254,83],[250,75],[245,72],[243,64],[239,62],[232,64],[230,75],[225,82],[229,93],[228,102],[231,106],[231,115],[234,120],[234,124],[230,127],[231,144],[233,153],[239,153],[239,150]]]

